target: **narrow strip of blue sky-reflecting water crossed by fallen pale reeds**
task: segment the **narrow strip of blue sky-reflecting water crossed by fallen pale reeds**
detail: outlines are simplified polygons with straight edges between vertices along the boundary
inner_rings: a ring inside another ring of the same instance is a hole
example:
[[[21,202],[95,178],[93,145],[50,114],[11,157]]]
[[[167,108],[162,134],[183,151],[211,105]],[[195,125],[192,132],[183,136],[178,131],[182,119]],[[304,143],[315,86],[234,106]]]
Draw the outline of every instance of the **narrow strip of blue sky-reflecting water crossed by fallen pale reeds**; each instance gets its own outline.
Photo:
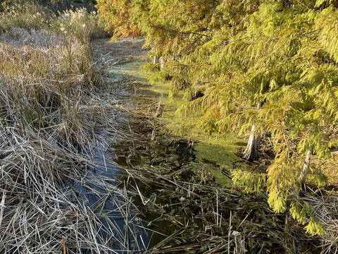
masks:
[[[132,196],[123,184],[124,170],[114,162],[115,154],[107,145],[99,145],[92,150],[94,159],[91,166],[84,169],[87,181],[70,182],[72,193],[70,200],[76,200],[89,207],[101,217],[106,229],[98,229],[102,238],[111,238],[111,248],[114,253],[138,253],[146,250],[149,244],[149,231],[143,229],[139,211],[132,203]],[[103,215],[104,214],[104,215]],[[103,216],[102,216],[103,215]],[[109,230],[107,230],[109,229]],[[104,244],[104,243],[101,243]]]

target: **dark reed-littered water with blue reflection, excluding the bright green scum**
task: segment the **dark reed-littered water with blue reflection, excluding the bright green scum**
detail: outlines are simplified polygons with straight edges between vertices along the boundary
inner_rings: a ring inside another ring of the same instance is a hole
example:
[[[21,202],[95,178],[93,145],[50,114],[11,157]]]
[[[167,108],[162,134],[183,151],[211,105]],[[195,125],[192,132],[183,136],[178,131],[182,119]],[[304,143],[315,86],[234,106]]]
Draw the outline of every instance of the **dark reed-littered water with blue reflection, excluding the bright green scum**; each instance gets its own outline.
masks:
[[[160,97],[142,88],[147,81],[140,70],[143,64],[120,62],[108,70],[111,86],[125,108],[121,115],[127,124],[121,131],[129,132],[130,138],[114,143],[114,137],[107,135],[106,145],[92,149],[93,160],[84,169],[88,182],[75,179],[70,184],[96,214],[104,212],[108,217],[105,223],[113,225],[113,237],[104,230],[100,234],[112,237],[113,250],[316,253],[314,242],[299,227],[287,228],[293,223],[287,214],[273,214],[264,194],[215,188],[213,179],[196,173],[203,173],[208,165],[196,160],[187,140],[158,137],[158,143],[149,146],[154,126],[148,119],[135,120],[126,113],[137,112]],[[161,170],[169,177],[162,177]]]

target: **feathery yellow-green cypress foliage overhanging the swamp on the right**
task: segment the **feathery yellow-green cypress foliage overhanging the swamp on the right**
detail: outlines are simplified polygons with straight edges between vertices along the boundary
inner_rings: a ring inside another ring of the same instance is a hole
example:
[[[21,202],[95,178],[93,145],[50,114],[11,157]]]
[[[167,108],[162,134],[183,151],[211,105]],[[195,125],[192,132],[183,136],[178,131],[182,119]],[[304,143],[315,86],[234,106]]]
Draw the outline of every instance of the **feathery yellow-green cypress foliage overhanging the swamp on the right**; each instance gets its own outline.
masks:
[[[268,193],[275,212],[306,229],[325,229],[299,199],[305,181],[327,183],[337,146],[338,2],[99,0],[99,18],[120,35],[146,36],[161,59],[153,81],[169,78],[186,92],[178,114],[200,115],[206,131],[250,133],[244,158],[258,142],[273,152],[264,170],[233,171],[246,190]],[[118,21],[118,22],[117,22]],[[151,68],[151,66],[149,67]],[[202,112],[202,114],[201,114]]]

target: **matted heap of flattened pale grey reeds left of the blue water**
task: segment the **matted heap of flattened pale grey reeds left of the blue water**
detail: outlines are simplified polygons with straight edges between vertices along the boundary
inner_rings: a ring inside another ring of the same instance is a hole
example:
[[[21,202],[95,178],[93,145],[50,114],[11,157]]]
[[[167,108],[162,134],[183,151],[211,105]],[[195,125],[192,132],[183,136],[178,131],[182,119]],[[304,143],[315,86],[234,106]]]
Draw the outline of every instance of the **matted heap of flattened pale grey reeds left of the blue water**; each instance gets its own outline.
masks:
[[[6,128],[4,134],[11,148],[1,159],[1,253],[55,253],[63,239],[69,250],[104,244],[89,230],[99,219],[63,191],[65,177],[87,161],[33,133]]]

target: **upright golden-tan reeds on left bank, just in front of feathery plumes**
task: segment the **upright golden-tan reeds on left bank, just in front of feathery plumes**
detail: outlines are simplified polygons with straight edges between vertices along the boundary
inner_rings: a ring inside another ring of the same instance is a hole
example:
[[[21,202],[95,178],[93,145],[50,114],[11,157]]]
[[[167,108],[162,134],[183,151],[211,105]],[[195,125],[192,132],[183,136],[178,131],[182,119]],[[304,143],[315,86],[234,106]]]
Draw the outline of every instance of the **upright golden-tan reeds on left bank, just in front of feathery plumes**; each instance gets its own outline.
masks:
[[[6,77],[5,85],[35,84],[39,79],[40,85],[33,85],[30,92],[37,87],[61,92],[84,87],[92,90],[101,82],[100,73],[92,62],[89,44],[80,44],[72,37],[53,47],[14,47],[0,43],[0,61],[1,76]],[[35,81],[29,82],[30,79]]]

